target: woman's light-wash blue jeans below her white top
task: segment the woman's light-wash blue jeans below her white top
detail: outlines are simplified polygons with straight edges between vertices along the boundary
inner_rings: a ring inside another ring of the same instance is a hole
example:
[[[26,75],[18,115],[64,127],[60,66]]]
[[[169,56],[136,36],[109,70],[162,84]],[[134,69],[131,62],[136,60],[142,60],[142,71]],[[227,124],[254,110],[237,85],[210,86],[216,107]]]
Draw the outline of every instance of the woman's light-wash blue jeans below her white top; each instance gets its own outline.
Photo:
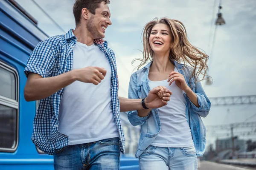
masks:
[[[139,156],[140,170],[197,170],[195,147],[149,147]]]

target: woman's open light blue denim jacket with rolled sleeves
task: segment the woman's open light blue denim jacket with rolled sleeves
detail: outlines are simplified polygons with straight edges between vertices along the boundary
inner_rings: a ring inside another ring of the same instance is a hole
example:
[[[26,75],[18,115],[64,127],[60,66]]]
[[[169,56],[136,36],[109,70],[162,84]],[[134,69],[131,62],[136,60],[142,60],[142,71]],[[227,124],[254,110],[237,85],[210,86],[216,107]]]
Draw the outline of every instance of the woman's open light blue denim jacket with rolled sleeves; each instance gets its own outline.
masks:
[[[150,91],[148,85],[148,71],[151,63],[152,62],[131,75],[128,92],[129,99],[142,99],[148,95],[148,92]],[[186,94],[184,94],[186,99],[186,118],[191,129],[196,154],[197,156],[203,156],[206,147],[206,130],[201,117],[206,117],[208,115],[211,103],[202,88],[201,82],[195,83],[194,78],[189,81],[191,76],[190,68],[183,64],[179,64],[176,61],[173,62],[173,64],[177,66],[179,73],[183,74],[186,83],[198,97],[198,104],[200,105],[199,108],[190,101]],[[135,154],[138,158],[160,132],[160,116],[158,114],[158,109],[151,109],[148,116],[145,117],[138,116],[137,111],[129,111],[128,119],[133,126],[142,125],[140,141]]]

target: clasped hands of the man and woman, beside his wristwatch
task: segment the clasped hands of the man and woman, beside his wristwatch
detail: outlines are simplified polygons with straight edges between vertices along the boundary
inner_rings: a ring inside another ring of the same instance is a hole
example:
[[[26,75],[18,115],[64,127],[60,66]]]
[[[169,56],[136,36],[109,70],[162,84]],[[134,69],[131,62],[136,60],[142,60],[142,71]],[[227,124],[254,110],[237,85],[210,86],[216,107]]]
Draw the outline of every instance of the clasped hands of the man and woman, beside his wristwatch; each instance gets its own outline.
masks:
[[[164,86],[158,86],[149,91],[145,98],[145,105],[147,108],[160,108],[167,105],[170,100],[172,92]]]

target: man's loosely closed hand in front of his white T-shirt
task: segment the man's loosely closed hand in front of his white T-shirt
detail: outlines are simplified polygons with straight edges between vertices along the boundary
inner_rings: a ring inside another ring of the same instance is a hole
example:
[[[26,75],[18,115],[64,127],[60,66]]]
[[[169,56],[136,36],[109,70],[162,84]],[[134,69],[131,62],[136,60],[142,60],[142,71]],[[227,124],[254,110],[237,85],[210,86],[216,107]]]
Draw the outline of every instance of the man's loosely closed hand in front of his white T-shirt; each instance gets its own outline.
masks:
[[[107,71],[99,67],[85,67],[73,70],[76,79],[80,82],[93,83],[98,85],[105,77]]]

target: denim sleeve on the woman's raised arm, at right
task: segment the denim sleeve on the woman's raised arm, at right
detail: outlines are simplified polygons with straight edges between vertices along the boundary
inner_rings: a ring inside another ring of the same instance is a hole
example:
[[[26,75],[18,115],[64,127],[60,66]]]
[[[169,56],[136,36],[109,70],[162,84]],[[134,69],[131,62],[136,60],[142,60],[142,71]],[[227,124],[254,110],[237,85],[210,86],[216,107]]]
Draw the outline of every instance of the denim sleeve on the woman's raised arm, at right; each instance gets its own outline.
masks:
[[[195,94],[197,95],[197,98],[198,98],[199,108],[193,104],[193,102],[189,99],[189,97],[187,97],[188,101],[192,106],[192,110],[195,111],[195,113],[198,113],[199,116],[206,117],[211,108],[211,102],[208,99],[207,95],[205,94],[204,89],[201,85],[201,82],[196,83]]]

